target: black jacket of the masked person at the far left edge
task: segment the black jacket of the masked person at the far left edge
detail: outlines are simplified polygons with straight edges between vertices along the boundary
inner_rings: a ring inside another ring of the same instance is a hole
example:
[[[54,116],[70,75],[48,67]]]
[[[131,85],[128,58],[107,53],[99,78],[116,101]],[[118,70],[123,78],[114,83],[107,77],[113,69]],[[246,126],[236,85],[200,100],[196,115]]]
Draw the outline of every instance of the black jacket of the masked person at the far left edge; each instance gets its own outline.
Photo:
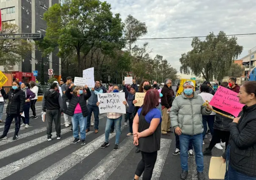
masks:
[[[25,93],[18,88],[17,90],[11,89],[7,94],[5,90],[1,89],[1,94],[4,99],[8,99],[6,113],[9,115],[19,115],[23,112],[25,105]]]

